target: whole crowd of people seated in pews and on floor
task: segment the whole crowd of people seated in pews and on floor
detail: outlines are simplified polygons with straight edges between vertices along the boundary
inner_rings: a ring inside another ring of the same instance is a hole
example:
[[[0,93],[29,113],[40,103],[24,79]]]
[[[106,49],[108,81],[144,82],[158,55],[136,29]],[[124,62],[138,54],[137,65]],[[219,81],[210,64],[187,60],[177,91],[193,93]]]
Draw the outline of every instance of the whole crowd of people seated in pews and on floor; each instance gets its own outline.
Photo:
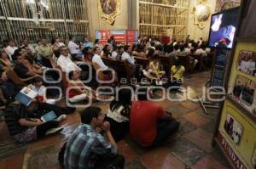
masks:
[[[121,60],[131,65],[132,76],[137,78],[140,86],[146,84],[143,83],[146,79],[152,85],[175,86],[178,89],[183,83],[185,67],[177,55],[206,55],[208,51],[205,44],[202,41],[191,41],[189,37],[186,41],[173,40],[169,44],[161,44],[154,37],[139,37],[133,46],[129,46],[116,42],[115,38],[111,37],[108,43],[102,46],[99,40],[93,44],[84,37],[83,43],[77,43],[75,37],[70,37],[66,45],[60,37],[55,37],[51,44],[43,38],[36,46],[24,39],[18,48],[15,41],[4,41],[3,48],[0,49],[0,102],[9,133],[20,142],[32,142],[44,137],[49,129],[58,127],[60,121],[66,118],[66,114],[74,111],[70,107],[59,107],[56,98],[61,93],[47,88],[63,88],[63,83],[58,82],[58,71],[50,68],[59,67],[61,73],[67,75],[67,87],[72,88],[66,96],[70,104],[99,99],[100,94],[89,90],[88,87],[92,86],[82,81],[89,73],[83,63],[92,65],[95,70],[100,69],[103,80],[108,80],[113,77],[113,72],[102,57]],[[174,65],[169,68],[171,75],[163,70],[160,63],[162,55],[174,60]],[[149,59],[148,65],[138,65],[135,56]],[[193,66],[198,63],[194,58],[189,61]],[[36,99],[28,106],[15,101],[16,94],[24,86],[17,85],[9,71],[15,72],[26,87],[38,93]],[[96,73],[92,79],[96,79]],[[118,73],[114,79],[113,86],[120,85]],[[136,94],[137,101],[134,101],[131,90],[120,89],[117,97],[110,103],[106,117],[98,107],[86,108],[80,114],[81,124],[61,149],[61,165],[66,168],[123,168],[125,159],[117,154],[116,141],[130,133],[137,144],[152,147],[163,144],[176,132],[179,122],[172,117],[172,113],[148,100],[148,93],[149,97],[154,97],[154,90],[147,87],[139,91],[140,93]],[[54,110],[56,118],[42,121],[41,117],[51,110]]]

